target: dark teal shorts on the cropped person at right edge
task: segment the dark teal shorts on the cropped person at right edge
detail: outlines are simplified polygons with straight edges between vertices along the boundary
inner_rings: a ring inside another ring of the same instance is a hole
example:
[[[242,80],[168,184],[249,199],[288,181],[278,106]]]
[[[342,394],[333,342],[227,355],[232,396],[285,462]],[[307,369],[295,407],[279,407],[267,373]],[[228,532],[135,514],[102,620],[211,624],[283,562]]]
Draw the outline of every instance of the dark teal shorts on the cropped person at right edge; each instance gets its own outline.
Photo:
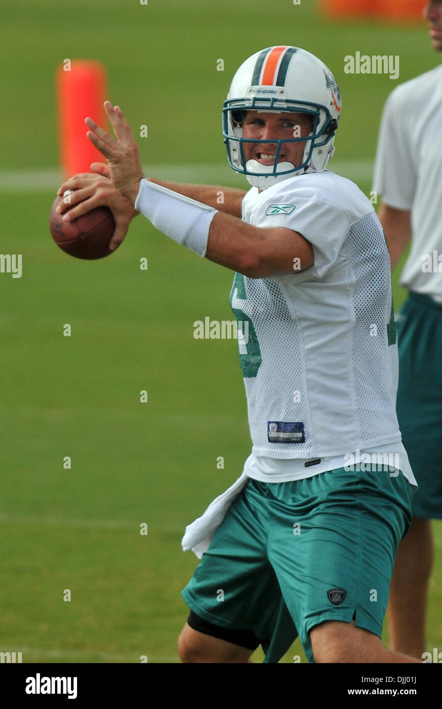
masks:
[[[416,517],[442,519],[442,306],[410,293],[397,320],[397,418],[419,488]]]

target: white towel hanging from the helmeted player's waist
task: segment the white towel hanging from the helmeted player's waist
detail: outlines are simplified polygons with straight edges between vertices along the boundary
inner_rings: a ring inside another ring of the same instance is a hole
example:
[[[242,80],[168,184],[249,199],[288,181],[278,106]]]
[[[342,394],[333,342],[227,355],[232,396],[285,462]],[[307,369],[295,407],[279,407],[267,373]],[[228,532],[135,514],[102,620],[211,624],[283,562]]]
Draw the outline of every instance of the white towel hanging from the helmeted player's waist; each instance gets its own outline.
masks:
[[[210,503],[204,515],[192,522],[191,525],[187,525],[181,542],[184,552],[192,549],[199,559],[202,558],[204,552],[209,549],[211,539],[225,518],[228,508],[241,493],[247,481],[248,476],[245,473],[241,474],[233,485]]]

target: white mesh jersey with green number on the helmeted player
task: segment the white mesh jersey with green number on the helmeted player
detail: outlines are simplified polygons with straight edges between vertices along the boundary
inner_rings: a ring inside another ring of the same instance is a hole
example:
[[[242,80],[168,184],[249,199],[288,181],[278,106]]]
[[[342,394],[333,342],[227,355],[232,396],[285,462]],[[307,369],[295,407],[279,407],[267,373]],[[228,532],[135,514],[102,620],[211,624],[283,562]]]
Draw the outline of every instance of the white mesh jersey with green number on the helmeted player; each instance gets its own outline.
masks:
[[[390,262],[370,201],[333,172],[304,174],[250,189],[243,220],[297,231],[314,250],[302,272],[233,281],[252,453],[308,459],[399,442]]]

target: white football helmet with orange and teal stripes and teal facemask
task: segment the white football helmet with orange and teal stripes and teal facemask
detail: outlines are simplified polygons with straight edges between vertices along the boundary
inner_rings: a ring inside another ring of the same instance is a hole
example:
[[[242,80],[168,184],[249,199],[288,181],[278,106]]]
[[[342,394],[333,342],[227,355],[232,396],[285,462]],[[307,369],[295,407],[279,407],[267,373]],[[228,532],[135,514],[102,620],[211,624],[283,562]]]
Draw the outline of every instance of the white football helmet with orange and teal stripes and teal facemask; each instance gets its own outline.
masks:
[[[243,138],[245,111],[307,113],[313,119],[309,138],[255,140]],[[259,189],[304,172],[322,172],[334,152],[341,115],[341,93],[330,69],[297,47],[267,47],[239,67],[223,107],[223,136],[228,163]],[[305,141],[302,164],[278,163],[283,143]],[[245,162],[243,143],[276,143],[273,165]]]

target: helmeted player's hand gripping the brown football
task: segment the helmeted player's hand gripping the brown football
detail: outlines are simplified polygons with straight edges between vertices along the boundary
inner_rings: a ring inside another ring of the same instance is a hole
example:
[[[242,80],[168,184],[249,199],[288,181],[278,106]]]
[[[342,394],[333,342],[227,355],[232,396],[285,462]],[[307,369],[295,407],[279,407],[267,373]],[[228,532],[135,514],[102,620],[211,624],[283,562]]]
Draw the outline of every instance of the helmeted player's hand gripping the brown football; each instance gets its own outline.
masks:
[[[57,191],[60,197],[67,190],[72,190],[72,193],[62,199],[58,211],[60,214],[64,214],[69,208],[69,220],[72,220],[96,207],[109,207],[115,220],[114,235],[109,243],[109,248],[113,251],[123,241],[128,226],[138,211],[133,208],[133,203],[130,200],[115,189],[108,177],[110,173],[107,165],[95,162],[94,169],[96,172],[76,174],[60,185]]]

